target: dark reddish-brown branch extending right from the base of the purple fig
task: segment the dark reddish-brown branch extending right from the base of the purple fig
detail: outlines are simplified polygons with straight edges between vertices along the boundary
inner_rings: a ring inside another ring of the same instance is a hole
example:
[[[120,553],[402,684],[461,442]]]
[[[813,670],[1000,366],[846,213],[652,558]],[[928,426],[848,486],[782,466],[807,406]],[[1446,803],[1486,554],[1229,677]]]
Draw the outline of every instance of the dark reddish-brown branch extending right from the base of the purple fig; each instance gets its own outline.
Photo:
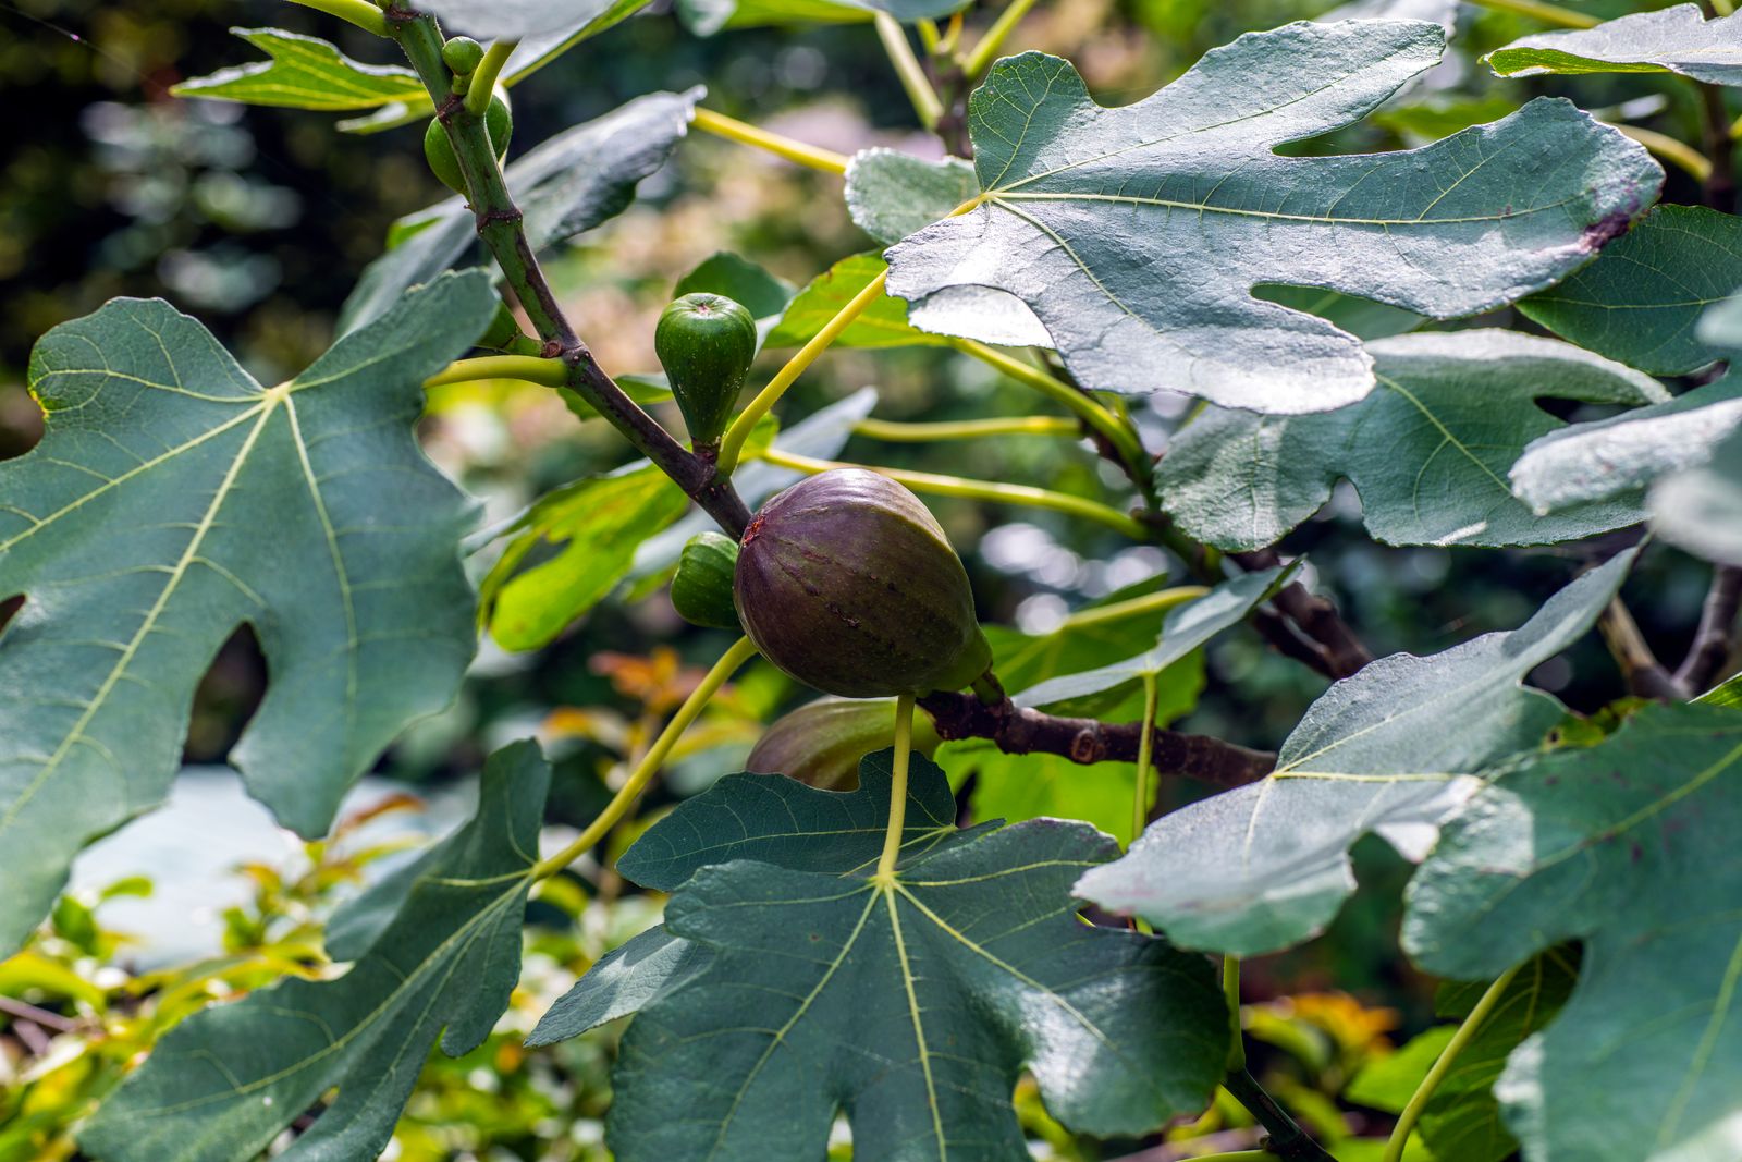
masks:
[[[1063,718],[1019,707],[1009,699],[981,702],[972,693],[934,692],[920,699],[941,739],[991,739],[1005,754],[1061,754],[1073,763],[1138,760],[1141,723],[1103,723],[1094,718]],[[1155,770],[1216,787],[1258,782],[1277,765],[1268,751],[1249,751],[1233,742],[1155,730]]]

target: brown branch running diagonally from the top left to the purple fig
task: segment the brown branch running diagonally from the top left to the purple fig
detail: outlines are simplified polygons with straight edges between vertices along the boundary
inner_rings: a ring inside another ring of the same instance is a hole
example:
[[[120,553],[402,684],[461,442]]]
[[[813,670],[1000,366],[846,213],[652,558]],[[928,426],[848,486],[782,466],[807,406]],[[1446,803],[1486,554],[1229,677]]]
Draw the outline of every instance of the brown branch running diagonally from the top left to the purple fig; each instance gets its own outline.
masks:
[[[740,537],[751,514],[732,488],[730,479],[719,479],[711,460],[702,460],[676,439],[658,422],[639,408],[599,368],[587,345],[575,334],[545,280],[538,256],[526,237],[519,206],[509,193],[496,162],[490,132],[477,113],[453,94],[448,66],[442,63],[442,35],[436,19],[402,5],[383,12],[388,35],[399,42],[406,57],[429,89],[436,103],[436,118],[448,131],[460,174],[470,195],[472,214],[477,220],[477,237],[496,258],[502,275],[531,319],[538,338],[545,341],[545,355],[561,359],[568,371],[568,387],[585,399],[622,432],[636,449],[660,467],[678,488],[699,503],[723,530]]]

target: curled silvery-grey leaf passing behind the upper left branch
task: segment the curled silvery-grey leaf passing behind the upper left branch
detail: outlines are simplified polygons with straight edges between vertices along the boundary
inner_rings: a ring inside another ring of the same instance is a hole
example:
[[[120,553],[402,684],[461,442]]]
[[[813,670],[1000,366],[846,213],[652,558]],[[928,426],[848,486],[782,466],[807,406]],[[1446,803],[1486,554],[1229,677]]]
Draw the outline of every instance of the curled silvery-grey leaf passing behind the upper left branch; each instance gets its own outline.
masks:
[[[636,185],[664,166],[688,132],[700,98],[700,89],[636,98],[514,160],[503,176],[526,216],[528,244],[544,249],[620,214]],[[378,317],[406,287],[429,282],[477,244],[477,223],[460,197],[402,218],[395,228],[401,240],[369,263],[345,300],[341,331]]]

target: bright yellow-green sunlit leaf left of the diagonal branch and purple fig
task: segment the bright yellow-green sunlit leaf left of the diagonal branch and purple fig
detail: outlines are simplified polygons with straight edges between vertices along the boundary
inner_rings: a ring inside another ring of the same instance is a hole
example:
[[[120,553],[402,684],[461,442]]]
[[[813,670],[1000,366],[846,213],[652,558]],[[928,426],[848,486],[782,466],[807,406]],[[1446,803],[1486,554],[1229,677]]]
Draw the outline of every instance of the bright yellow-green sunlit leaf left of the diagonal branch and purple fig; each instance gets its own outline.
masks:
[[[549,645],[629,575],[643,540],[688,507],[683,490],[645,462],[545,493],[481,585],[491,638],[503,650]]]

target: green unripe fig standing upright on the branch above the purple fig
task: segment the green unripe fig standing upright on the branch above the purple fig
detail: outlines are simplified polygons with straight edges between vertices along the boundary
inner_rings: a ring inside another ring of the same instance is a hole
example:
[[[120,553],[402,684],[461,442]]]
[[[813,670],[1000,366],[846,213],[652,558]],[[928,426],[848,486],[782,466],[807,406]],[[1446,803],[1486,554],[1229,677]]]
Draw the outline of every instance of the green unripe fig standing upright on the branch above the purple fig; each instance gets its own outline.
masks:
[[[653,352],[690,439],[697,448],[719,444],[756,359],[756,319],[725,294],[685,294],[660,312]]]

